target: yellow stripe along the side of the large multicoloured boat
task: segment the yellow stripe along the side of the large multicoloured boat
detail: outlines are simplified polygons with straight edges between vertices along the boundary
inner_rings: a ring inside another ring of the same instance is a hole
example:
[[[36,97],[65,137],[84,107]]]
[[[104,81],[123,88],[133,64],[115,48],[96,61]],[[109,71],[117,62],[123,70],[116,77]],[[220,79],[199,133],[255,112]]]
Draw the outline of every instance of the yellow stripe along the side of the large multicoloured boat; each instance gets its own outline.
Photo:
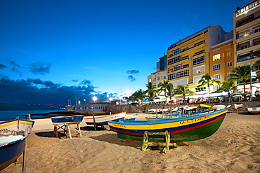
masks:
[[[145,125],[144,123],[141,124],[141,125],[138,125],[138,124],[127,125],[127,124],[116,124],[116,123],[108,123],[108,124],[112,127],[119,127],[119,128],[122,128],[122,129],[129,129],[129,130],[167,129],[167,128],[171,128],[171,127],[179,127],[179,126],[183,126],[183,125],[191,125],[191,124],[194,124],[194,123],[199,123],[202,120],[208,120],[210,118],[220,116],[221,114],[226,113],[226,112],[228,112],[228,110],[221,111],[220,113],[213,113],[212,115],[209,115],[209,116],[202,116],[200,118],[193,118],[193,119],[189,119],[189,120],[181,120],[181,121],[172,122],[172,123],[160,123],[160,124],[156,124],[156,125],[150,125],[150,124]],[[160,122],[160,121],[158,121],[158,122]]]

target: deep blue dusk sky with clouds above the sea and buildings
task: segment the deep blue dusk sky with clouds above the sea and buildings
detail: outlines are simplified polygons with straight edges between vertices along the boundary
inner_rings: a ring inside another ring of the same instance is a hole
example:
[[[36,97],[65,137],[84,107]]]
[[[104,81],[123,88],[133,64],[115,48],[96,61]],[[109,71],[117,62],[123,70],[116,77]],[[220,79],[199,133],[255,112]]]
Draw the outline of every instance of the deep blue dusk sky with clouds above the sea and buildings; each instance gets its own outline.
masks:
[[[146,90],[167,48],[233,29],[248,0],[0,0],[0,102],[66,104]]]

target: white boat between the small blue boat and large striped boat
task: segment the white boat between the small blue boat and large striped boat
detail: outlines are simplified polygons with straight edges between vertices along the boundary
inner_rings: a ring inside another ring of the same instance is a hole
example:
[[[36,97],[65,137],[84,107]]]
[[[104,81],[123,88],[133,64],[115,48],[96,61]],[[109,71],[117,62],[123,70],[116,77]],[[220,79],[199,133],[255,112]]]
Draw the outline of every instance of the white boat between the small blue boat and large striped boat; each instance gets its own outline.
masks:
[[[105,115],[105,116],[94,116],[95,124],[96,125],[108,125],[109,120],[122,120],[126,116],[126,112],[115,113],[112,115]],[[94,125],[93,117],[84,118],[87,125]]]

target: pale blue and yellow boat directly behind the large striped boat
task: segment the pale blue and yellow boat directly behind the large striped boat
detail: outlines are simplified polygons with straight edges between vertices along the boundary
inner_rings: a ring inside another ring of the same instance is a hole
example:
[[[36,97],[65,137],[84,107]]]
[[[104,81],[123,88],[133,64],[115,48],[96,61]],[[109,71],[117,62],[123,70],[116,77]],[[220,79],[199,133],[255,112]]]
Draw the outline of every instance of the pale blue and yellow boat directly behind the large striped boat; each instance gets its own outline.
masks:
[[[186,118],[186,117],[193,117],[193,116],[200,116],[204,113],[211,113],[212,111],[197,111],[197,112],[190,112],[188,113],[174,113],[171,115],[150,115],[145,116],[145,120],[170,120],[170,119],[176,119],[176,118]]]

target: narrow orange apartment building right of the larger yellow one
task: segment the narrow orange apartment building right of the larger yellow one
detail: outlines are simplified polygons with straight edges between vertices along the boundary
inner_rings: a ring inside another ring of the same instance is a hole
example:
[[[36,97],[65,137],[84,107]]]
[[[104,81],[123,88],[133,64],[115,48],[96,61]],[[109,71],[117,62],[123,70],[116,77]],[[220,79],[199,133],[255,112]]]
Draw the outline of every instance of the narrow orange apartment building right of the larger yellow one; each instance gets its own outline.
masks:
[[[225,34],[225,41],[212,46],[209,50],[209,74],[218,81],[228,81],[228,75],[235,68],[233,31]],[[214,85],[217,90],[219,85]]]

